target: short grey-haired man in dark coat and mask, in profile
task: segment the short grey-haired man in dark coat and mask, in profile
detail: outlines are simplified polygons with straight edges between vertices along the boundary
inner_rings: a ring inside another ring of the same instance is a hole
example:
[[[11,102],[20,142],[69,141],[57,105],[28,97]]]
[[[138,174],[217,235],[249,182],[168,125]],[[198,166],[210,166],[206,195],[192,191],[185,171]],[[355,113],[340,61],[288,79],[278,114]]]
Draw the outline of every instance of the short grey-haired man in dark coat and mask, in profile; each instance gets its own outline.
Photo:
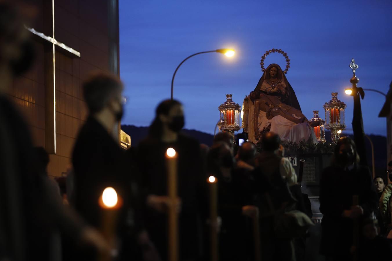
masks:
[[[83,83],[83,96],[89,110],[88,117],[80,128],[72,153],[74,168],[74,207],[93,227],[102,226],[102,209],[98,199],[106,187],[113,187],[122,199],[116,237],[128,239],[125,233],[141,232],[138,217],[132,216],[129,224],[128,211],[138,207],[138,198],[133,193],[132,175],[127,175],[125,152],[115,140],[115,126],[122,118],[123,84],[117,76],[107,73],[92,75]],[[136,212],[136,211],[134,211]],[[136,238],[136,236],[134,236]],[[135,239],[136,241],[136,239]],[[127,251],[134,245],[122,245]],[[116,246],[113,246],[116,247]],[[120,249],[120,256],[124,249]],[[76,257],[93,260],[94,251],[76,253]]]

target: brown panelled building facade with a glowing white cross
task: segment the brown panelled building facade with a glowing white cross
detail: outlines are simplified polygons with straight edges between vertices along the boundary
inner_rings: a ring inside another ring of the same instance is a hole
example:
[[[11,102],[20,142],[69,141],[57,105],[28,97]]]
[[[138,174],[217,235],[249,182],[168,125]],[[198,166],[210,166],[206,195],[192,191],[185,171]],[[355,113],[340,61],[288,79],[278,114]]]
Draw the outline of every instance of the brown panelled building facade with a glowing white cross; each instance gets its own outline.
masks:
[[[38,12],[34,24],[26,25],[36,61],[9,95],[25,116],[34,145],[48,151],[49,175],[61,176],[87,117],[81,83],[93,71],[120,71],[118,0],[25,2]]]

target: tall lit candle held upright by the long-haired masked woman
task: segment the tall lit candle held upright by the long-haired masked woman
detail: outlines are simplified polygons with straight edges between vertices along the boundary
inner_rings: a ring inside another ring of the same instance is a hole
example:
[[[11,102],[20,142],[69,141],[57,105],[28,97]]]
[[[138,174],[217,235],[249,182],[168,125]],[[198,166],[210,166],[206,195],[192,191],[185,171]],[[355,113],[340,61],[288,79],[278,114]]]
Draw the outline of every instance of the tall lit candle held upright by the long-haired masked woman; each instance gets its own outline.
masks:
[[[178,261],[178,214],[177,214],[177,153],[166,150],[167,193],[171,204],[168,211],[168,260]]]

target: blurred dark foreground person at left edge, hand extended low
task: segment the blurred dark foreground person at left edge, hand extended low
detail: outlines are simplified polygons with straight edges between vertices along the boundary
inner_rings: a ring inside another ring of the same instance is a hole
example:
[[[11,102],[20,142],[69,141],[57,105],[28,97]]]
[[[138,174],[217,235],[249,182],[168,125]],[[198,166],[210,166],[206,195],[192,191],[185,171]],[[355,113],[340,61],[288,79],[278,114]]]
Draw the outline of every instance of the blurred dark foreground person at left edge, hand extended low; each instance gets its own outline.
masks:
[[[96,230],[53,197],[33,153],[28,127],[6,96],[13,78],[29,69],[33,44],[11,5],[0,4],[0,259],[53,260],[47,241],[56,228],[75,242],[108,250]]]

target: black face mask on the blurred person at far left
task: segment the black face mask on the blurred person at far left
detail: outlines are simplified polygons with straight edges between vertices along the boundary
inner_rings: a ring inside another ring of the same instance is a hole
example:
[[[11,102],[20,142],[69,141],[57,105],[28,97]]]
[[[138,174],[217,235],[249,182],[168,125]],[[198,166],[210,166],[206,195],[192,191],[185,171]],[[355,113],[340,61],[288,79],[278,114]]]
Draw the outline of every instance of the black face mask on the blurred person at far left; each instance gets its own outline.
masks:
[[[30,69],[35,59],[35,50],[33,42],[26,40],[20,45],[20,58],[10,62],[14,75],[20,75]]]

